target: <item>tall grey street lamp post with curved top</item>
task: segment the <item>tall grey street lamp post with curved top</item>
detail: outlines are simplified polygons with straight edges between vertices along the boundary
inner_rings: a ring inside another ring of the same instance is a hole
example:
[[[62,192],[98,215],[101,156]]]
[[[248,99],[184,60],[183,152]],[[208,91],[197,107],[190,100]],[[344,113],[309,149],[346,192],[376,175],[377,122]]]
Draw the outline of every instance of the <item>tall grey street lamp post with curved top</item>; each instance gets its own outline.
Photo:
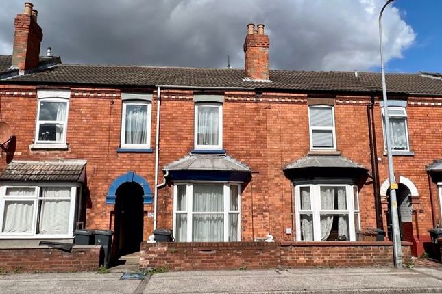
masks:
[[[384,71],[384,57],[382,55],[382,12],[386,8],[386,5],[394,0],[387,0],[384,7],[379,14],[379,42],[380,42],[380,72],[382,77],[382,100],[384,101],[384,124],[385,124],[385,137],[386,137],[386,155],[389,162],[389,181],[390,181],[390,214],[393,227],[393,255],[395,267],[402,268],[402,245],[399,230],[399,217],[397,217],[397,200],[396,189],[397,183],[395,181],[395,173],[393,168],[393,156],[391,155],[391,126],[389,119],[389,107],[386,98],[386,83],[385,83],[385,71]]]

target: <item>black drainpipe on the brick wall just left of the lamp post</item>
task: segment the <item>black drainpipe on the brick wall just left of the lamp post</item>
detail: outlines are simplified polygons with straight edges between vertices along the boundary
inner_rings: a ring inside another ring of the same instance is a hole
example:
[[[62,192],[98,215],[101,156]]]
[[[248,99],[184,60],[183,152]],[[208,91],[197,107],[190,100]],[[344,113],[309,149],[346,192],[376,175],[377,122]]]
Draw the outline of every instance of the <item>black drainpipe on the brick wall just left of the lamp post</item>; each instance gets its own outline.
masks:
[[[373,193],[374,193],[374,207],[376,212],[376,227],[384,229],[384,222],[382,222],[382,204],[380,201],[380,183],[378,170],[378,152],[376,148],[376,134],[375,124],[373,119],[374,96],[371,96],[371,103],[367,105],[367,118],[369,121],[369,142],[371,155],[371,172],[373,173]]]

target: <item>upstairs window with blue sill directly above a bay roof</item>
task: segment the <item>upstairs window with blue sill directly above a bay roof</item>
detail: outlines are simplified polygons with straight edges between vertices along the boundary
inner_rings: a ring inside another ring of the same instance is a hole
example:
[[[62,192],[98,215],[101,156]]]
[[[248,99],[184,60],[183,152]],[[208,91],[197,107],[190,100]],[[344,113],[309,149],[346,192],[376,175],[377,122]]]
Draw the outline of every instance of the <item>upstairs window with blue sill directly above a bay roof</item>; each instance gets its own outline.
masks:
[[[223,105],[195,104],[195,149],[223,148]]]

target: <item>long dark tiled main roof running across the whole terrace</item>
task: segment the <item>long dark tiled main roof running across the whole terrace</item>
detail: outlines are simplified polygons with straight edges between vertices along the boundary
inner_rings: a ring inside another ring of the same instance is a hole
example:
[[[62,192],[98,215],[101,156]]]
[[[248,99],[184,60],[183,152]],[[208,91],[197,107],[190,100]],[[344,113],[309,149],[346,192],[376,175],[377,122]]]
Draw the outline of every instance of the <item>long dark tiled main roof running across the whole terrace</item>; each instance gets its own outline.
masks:
[[[381,92],[380,74],[270,70],[271,82],[245,81],[243,69],[58,64],[4,83],[81,84],[144,87],[171,85],[206,88],[251,88],[306,91]],[[387,74],[389,92],[442,94],[442,81],[420,74]]]

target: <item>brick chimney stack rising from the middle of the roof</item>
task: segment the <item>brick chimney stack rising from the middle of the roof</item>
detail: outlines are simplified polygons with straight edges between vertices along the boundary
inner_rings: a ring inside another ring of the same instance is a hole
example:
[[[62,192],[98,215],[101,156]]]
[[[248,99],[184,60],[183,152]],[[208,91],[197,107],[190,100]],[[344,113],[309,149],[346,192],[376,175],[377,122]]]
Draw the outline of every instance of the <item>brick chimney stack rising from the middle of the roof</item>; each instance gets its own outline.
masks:
[[[247,25],[244,41],[245,78],[251,81],[269,81],[269,36],[264,25]]]

